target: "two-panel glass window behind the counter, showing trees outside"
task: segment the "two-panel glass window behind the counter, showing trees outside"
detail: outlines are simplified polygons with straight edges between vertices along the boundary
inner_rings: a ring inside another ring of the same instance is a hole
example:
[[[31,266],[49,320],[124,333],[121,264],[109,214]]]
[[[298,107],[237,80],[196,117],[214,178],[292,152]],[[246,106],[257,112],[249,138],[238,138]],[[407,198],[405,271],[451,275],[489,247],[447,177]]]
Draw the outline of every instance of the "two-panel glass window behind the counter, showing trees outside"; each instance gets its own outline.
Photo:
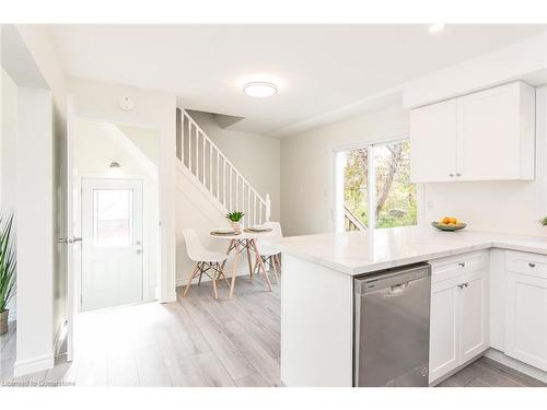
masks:
[[[410,183],[408,140],[337,154],[339,226],[345,231],[416,225],[416,185]]]

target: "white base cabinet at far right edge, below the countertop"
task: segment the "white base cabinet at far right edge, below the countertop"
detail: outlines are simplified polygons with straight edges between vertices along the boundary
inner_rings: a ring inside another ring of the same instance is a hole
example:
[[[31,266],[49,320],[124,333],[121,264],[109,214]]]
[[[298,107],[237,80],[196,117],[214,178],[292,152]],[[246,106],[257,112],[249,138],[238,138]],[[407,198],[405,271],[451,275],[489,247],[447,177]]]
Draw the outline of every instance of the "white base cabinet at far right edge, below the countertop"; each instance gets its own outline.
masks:
[[[507,269],[504,353],[547,371],[547,257],[508,251]]]

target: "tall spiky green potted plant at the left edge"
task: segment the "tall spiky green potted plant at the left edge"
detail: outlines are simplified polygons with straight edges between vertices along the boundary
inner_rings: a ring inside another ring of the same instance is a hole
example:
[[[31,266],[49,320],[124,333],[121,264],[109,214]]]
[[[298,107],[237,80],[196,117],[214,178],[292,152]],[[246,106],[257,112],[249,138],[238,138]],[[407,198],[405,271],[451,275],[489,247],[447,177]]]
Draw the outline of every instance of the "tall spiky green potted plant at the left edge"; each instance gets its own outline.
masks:
[[[15,293],[16,260],[13,250],[13,215],[0,215],[0,335],[8,331],[8,303]]]

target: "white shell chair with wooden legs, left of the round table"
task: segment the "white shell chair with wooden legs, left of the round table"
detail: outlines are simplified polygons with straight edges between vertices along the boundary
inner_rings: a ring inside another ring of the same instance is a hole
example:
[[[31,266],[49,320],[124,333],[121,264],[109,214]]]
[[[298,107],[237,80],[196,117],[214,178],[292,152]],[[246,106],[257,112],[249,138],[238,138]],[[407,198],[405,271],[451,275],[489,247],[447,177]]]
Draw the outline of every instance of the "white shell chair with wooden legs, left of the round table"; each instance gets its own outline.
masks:
[[[221,265],[228,259],[228,255],[206,249],[203,245],[201,245],[201,242],[194,230],[183,230],[183,235],[184,241],[186,242],[186,253],[188,254],[188,258],[196,262],[196,267],[188,276],[188,283],[186,284],[183,296],[186,296],[191,286],[191,282],[196,277],[199,277],[198,285],[201,283],[201,276],[205,273],[211,278],[214,298],[219,298],[217,281],[219,279],[224,279],[226,284],[230,286]]]

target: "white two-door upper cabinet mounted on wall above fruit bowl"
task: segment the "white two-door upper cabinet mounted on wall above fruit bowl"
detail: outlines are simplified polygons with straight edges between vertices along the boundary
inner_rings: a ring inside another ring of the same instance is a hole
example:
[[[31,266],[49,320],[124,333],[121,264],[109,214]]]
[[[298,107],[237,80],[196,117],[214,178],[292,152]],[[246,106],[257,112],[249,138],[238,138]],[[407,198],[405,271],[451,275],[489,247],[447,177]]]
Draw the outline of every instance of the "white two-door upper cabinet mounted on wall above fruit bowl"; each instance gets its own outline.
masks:
[[[534,179],[535,89],[514,82],[410,112],[411,179]]]

